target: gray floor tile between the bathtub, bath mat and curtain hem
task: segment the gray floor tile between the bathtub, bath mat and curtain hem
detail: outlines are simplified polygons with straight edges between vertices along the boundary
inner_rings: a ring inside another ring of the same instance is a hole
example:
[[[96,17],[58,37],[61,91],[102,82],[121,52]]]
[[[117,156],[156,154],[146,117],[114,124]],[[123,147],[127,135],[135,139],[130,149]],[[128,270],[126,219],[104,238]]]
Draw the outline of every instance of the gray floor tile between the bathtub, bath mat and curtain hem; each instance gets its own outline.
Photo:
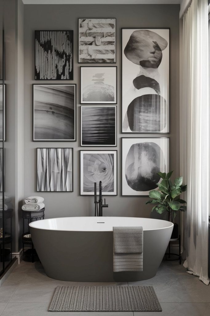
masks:
[[[156,274],[155,277],[129,285],[152,285],[160,302],[209,303],[210,287],[198,277],[185,274]]]

